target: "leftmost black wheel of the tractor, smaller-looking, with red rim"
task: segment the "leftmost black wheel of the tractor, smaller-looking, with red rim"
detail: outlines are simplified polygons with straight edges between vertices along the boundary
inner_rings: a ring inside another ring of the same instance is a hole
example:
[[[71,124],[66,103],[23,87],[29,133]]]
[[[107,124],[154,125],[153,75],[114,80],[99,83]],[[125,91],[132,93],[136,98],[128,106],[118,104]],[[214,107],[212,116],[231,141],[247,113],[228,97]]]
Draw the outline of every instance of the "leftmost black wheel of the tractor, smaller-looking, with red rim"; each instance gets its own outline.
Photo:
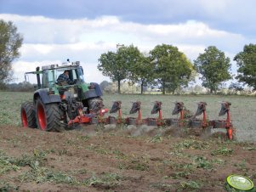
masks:
[[[37,128],[36,111],[33,102],[26,101],[21,104],[20,117],[22,127]]]

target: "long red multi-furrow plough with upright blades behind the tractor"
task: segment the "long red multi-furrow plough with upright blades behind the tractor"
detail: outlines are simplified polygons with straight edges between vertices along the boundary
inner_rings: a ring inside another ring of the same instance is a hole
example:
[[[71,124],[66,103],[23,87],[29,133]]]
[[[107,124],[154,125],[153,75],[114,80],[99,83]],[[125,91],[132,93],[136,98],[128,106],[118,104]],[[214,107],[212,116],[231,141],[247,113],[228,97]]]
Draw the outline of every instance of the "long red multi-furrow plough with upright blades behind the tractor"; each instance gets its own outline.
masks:
[[[221,109],[219,111],[219,116],[225,116],[225,120],[208,120],[207,118],[207,111],[206,111],[206,102],[198,102],[197,103],[197,110],[194,116],[187,113],[188,110],[185,110],[185,104],[183,102],[175,102],[174,110],[172,115],[178,115],[177,118],[162,118],[162,102],[155,101],[154,106],[151,110],[151,114],[157,114],[156,118],[145,118],[142,119],[142,112],[140,109],[141,102],[136,101],[133,102],[132,108],[129,111],[129,114],[138,114],[137,117],[122,117],[121,111],[121,101],[114,101],[110,110],[110,113],[118,113],[116,116],[108,116],[104,117],[106,109],[103,110],[104,105],[102,102],[100,104],[95,104],[95,111],[100,111],[99,116],[94,116],[91,118],[91,123],[104,123],[104,124],[127,124],[127,125],[147,125],[147,126],[162,126],[162,127],[189,127],[189,128],[201,128],[202,130],[206,129],[207,127],[210,128],[220,128],[226,130],[226,135],[229,139],[233,138],[234,128],[231,123],[230,119],[230,102],[222,102]],[[202,115],[202,119],[197,118],[197,116]]]

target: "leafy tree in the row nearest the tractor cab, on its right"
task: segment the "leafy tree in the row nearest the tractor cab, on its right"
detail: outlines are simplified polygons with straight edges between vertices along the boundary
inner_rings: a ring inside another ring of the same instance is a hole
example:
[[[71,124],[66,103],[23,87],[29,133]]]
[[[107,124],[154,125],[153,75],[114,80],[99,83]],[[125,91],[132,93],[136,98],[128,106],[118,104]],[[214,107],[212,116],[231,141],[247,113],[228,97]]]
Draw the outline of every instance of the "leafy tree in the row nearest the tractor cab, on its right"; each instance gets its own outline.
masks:
[[[104,76],[110,76],[113,82],[117,82],[118,93],[121,93],[121,81],[128,78],[130,68],[138,62],[139,57],[139,49],[134,45],[122,46],[117,49],[117,53],[101,54],[98,69]]]

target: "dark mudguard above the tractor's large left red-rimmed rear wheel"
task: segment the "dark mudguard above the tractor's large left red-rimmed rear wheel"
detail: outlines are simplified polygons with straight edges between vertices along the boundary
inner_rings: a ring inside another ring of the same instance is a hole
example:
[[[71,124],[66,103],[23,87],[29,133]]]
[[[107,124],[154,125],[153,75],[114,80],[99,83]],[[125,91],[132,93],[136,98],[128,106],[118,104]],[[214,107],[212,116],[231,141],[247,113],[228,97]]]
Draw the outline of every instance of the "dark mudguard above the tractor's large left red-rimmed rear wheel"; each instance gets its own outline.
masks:
[[[34,101],[40,97],[43,101],[43,104],[50,104],[50,103],[60,103],[60,95],[59,94],[48,94],[48,89],[38,89],[34,93]]]

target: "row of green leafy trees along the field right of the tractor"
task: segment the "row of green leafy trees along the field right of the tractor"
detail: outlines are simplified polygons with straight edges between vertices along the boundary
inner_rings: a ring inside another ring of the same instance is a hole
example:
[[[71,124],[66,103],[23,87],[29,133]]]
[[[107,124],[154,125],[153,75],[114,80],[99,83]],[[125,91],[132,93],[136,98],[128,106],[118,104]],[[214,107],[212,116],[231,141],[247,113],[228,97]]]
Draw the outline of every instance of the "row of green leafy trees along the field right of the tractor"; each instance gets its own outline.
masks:
[[[238,65],[237,81],[255,90],[256,44],[245,45],[234,60]],[[141,93],[147,85],[159,85],[163,94],[187,87],[197,74],[201,75],[202,87],[216,93],[223,82],[232,79],[230,67],[230,58],[215,46],[205,48],[192,63],[178,48],[168,44],[156,45],[149,53],[141,53],[134,45],[122,45],[116,52],[101,54],[98,65],[104,76],[117,82],[118,93],[121,81],[128,80],[139,83]],[[232,83],[231,87],[241,89],[239,83]]]

